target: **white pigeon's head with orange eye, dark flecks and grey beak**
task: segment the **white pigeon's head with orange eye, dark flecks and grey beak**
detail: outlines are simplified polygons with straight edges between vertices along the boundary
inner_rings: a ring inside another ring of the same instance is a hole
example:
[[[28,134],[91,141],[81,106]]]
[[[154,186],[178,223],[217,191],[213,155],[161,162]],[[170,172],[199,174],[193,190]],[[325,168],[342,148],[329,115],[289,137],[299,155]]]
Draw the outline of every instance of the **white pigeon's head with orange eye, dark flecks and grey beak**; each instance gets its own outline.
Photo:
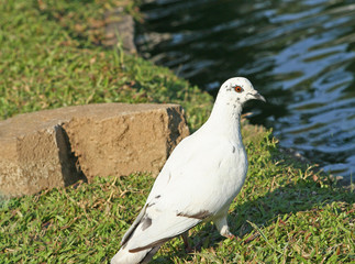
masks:
[[[233,77],[224,81],[221,86],[218,97],[226,100],[228,105],[240,103],[243,106],[246,101],[256,99],[266,101],[265,98],[254,89],[252,82],[244,77]]]

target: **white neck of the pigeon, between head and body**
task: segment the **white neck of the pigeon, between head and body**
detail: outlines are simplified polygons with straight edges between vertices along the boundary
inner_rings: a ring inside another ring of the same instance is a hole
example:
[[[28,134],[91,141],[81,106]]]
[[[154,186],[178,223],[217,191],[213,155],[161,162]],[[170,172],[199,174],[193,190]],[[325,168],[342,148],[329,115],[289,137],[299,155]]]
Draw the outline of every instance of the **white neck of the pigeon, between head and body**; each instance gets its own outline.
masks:
[[[225,103],[223,100],[215,100],[211,116],[206,122],[206,127],[210,128],[210,133],[218,136],[226,136],[236,143],[242,143],[241,135],[241,113],[242,106],[240,103]],[[212,131],[212,132],[211,132]]]

